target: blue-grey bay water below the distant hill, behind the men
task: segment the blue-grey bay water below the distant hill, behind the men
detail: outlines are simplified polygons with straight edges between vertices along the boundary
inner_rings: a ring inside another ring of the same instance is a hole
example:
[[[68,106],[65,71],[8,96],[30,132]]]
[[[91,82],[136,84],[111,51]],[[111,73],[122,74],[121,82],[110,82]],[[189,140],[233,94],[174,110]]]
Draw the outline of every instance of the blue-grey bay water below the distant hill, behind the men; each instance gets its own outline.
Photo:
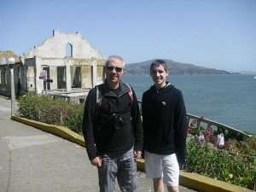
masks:
[[[183,92],[187,113],[256,133],[256,79],[253,75],[169,75]],[[137,99],[153,84],[149,75],[124,75]]]

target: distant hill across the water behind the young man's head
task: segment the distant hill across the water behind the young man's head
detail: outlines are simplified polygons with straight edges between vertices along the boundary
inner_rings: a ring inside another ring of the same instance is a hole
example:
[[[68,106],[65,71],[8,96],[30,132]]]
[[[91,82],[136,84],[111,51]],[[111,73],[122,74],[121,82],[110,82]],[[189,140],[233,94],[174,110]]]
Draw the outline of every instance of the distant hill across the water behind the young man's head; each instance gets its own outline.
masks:
[[[148,74],[149,67],[154,60],[125,65],[125,74]],[[195,66],[193,64],[181,63],[172,60],[165,60],[170,74],[231,74],[224,70]],[[234,74],[234,73],[232,73]]]

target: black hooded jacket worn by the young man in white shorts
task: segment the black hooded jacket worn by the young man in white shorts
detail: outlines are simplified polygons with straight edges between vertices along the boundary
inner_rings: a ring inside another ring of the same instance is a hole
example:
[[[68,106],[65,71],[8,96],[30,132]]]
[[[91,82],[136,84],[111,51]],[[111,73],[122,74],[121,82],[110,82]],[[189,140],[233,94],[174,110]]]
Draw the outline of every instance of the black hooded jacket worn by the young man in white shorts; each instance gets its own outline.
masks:
[[[153,154],[177,154],[185,162],[187,116],[183,95],[172,84],[143,93],[144,149]]]

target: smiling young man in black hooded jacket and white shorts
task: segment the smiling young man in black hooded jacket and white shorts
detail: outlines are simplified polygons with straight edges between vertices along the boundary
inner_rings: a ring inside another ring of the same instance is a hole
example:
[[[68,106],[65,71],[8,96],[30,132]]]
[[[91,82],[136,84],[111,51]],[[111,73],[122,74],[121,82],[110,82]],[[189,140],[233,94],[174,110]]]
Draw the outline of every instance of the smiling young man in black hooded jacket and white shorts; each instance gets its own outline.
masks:
[[[166,82],[165,61],[151,64],[154,85],[143,93],[143,133],[146,176],[153,178],[154,191],[178,191],[179,165],[185,162],[187,116],[183,95]]]

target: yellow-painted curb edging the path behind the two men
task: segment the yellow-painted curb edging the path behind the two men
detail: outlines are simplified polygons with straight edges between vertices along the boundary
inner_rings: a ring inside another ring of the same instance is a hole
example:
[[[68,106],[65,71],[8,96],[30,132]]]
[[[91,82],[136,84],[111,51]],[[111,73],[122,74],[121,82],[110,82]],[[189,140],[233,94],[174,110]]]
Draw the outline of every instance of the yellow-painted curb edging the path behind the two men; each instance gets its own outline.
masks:
[[[84,137],[60,125],[49,125],[31,119],[12,116],[11,119],[20,123],[36,127],[42,131],[52,133],[56,136],[67,139],[70,142],[77,143],[85,147]],[[145,172],[144,160],[137,160],[137,169]],[[180,184],[202,192],[253,192],[253,190],[239,187],[235,184],[225,183],[210,177],[204,177],[199,174],[180,171]]]

